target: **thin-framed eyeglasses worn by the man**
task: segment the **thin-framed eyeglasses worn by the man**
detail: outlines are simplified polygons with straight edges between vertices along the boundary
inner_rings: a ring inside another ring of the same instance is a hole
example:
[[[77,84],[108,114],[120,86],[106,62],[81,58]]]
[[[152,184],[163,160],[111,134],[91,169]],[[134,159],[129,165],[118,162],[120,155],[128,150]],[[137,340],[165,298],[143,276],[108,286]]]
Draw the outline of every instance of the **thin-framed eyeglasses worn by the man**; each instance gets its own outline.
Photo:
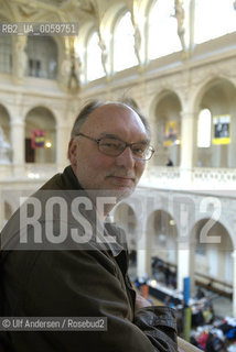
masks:
[[[103,154],[109,156],[120,155],[127,146],[132,151],[132,157],[137,161],[148,161],[152,157],[154,148],[146,143],[126,143],[116,138],[104,136],[101,139],[93,139],[84,133],[76,134],[77,136],[82,135],[90,141],[97,143],[98,151]]]

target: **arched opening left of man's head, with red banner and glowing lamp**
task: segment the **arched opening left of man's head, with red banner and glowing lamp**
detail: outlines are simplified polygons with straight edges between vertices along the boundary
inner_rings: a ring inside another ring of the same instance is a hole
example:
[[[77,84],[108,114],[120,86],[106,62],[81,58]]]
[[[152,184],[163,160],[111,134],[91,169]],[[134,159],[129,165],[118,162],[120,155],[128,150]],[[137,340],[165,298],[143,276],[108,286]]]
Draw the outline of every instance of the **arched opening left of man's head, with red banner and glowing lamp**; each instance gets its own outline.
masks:
[[[46,108],[34,108],[26,114],[25,119],[25,162],[55,163],[55,118]]]

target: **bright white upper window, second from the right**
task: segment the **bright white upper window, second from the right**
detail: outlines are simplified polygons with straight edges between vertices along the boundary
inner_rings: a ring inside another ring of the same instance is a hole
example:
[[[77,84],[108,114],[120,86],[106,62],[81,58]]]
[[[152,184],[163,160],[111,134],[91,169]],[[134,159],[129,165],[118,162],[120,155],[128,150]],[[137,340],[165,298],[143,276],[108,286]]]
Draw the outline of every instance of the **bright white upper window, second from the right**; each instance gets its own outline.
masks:
[[[174,18],[174,0],[158,0],[149,14],[150,59],[181,51],[178,22]]]

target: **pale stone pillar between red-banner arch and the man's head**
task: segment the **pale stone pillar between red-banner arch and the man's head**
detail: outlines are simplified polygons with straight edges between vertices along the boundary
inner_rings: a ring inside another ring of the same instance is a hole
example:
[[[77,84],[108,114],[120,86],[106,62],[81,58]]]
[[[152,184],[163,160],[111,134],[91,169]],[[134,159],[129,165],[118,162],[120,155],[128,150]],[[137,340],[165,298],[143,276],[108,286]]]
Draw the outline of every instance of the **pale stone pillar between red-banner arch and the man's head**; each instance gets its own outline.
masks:
[[[71,135],[68,124],[57,123],[56,125],[56,164],[58,170],[63,170],[69,164],[67,158],[67,148]]]

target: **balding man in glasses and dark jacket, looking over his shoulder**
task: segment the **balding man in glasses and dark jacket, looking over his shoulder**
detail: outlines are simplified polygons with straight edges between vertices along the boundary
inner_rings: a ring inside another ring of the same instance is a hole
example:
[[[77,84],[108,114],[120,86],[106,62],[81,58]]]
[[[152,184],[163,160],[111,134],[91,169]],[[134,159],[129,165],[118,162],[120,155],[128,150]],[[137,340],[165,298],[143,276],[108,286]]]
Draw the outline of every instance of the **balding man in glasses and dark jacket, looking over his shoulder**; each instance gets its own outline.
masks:
[[[103,229],[115,204],[136,189],[152,154],[147,120],[126,103],[95,101],[82,110],[68,145],[71,166],[34,195],[45,210],[28,227],[21,207],[2,231],[1,309],[4,317],[105,317],[107,330],[4,331],[6,349],[176,351],[173,310],[136,295],[122,232],[109,223]],[[54,207],[51,215],[52,199],[65,211]]]

